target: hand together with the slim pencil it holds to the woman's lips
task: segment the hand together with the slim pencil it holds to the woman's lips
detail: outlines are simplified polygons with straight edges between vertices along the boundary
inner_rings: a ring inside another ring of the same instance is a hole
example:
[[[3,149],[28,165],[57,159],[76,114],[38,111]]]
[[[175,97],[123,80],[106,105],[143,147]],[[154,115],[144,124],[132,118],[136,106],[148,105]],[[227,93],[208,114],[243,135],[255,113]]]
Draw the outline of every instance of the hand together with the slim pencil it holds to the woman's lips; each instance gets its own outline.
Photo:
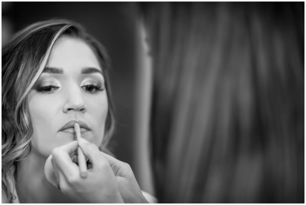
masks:
[[[95,144],[80,138],[78,127],[78,124],[76,124],[75,135],[77,140],[52,150],[45,165],[47,180],[78,203],[124,203],[120,194],[121,185],[119,187],[117,181],[119,176],[115,175],[111,167],[111,164],[119,161],[101,152]],[[74,162],[75,158],[73,156],[76,151],[78,152],[78,165]],[[91,168],[86,165],[85,158],[87,157],[92,164]],[[125,163],[121,163],[125,165]],[[129,173],[129,176],[134,177],[131,170]],[[129,177],[126,178],[126,173],[122,174],[125,177],[122,177],[123,180],[119,181],[127,186],[124,189],[130,189],[134,194],[133,188],[129,186]],[[131,187],[135,187],[135,185]],[[141,194],[141,191],[139,193]]]

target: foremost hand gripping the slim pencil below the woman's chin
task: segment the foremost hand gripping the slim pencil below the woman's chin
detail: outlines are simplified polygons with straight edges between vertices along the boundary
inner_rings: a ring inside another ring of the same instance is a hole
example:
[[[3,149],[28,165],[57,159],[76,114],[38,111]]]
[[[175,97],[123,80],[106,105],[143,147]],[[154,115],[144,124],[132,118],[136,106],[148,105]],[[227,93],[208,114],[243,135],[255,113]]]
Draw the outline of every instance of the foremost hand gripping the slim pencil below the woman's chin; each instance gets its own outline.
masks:
[[[80,168],[70,157],[77,150],[77,141],[52,151],[51,162],[61,191],[79,203],[123,203],[118,180],[108,160],[95,144],[86,140],[81,144],[92,163],[86,178],[80,177]]]

